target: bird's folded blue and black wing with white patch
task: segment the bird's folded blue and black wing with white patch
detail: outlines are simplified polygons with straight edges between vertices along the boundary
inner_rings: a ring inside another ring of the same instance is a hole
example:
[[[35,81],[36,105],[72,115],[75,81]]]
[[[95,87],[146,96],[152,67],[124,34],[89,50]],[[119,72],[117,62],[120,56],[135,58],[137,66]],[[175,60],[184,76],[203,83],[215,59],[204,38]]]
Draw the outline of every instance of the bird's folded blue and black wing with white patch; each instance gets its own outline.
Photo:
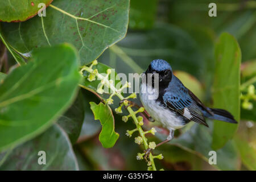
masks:
[[[190,121],[208,126],[200,107],[188,93],[168,92],[163,96],[164,104]]]

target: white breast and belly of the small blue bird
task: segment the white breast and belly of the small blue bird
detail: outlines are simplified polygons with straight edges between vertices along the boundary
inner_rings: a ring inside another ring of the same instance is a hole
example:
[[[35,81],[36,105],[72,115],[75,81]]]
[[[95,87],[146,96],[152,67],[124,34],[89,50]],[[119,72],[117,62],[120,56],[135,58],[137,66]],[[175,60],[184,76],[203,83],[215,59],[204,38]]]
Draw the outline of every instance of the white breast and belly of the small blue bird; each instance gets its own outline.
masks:
[[[185,123],[181,117],[178,117],[169,109],[164,109],[160,102],[148,99],[148,96],[151,95],[148,93],[156,92],[154,89],[148,88],[146,90],[146,84],[142,84],[140,91],[141,92],[139,93],[139,97],[141,98],[141,102],[148,114],[150,114],[150,116],[154,118],[155,121],[162,123],[168,129],[172,130],[180,129],[181,127],[185,126]]]

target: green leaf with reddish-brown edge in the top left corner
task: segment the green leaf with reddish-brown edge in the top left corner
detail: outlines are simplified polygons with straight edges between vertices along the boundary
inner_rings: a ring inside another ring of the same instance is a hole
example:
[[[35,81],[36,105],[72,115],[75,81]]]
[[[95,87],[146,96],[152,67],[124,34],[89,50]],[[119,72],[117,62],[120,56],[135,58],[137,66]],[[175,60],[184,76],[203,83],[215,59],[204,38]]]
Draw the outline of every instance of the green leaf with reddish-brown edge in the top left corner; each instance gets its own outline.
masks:
[[[0,21],[23,22],[38,14],[38,11],[43,7],[39,6],[40,3],[48,6],[51,2],[52,0],[30,0],[26,2],[19,0],[1,1]]]

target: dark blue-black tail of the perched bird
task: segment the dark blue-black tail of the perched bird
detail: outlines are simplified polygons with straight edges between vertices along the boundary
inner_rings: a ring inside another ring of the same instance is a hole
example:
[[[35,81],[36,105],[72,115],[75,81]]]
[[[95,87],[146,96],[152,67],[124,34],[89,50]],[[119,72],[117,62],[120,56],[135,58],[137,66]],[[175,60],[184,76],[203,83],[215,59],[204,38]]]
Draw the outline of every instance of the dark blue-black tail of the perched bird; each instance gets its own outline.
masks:
[[[208,108],[208,109],[213,113],[213,115],[207,115],[207,117],[210,119],[216,119],[216,120],[225,121],[229,123],[237,123],[233,115],[224,109],[212,109],[212,108]]]

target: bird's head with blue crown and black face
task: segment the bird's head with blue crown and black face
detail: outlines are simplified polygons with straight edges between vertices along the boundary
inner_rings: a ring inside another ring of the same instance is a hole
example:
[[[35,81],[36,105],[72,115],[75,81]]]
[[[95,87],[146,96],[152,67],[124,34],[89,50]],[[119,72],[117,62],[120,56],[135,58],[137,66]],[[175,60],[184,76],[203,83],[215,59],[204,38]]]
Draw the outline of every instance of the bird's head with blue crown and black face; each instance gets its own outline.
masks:
[[[167,86],[172,80],[172,67],[167,61],[162,59],[153,60],[147,68],[145,74],[152,74],[152,81],[155,73],[158,73],[159,85]]]

